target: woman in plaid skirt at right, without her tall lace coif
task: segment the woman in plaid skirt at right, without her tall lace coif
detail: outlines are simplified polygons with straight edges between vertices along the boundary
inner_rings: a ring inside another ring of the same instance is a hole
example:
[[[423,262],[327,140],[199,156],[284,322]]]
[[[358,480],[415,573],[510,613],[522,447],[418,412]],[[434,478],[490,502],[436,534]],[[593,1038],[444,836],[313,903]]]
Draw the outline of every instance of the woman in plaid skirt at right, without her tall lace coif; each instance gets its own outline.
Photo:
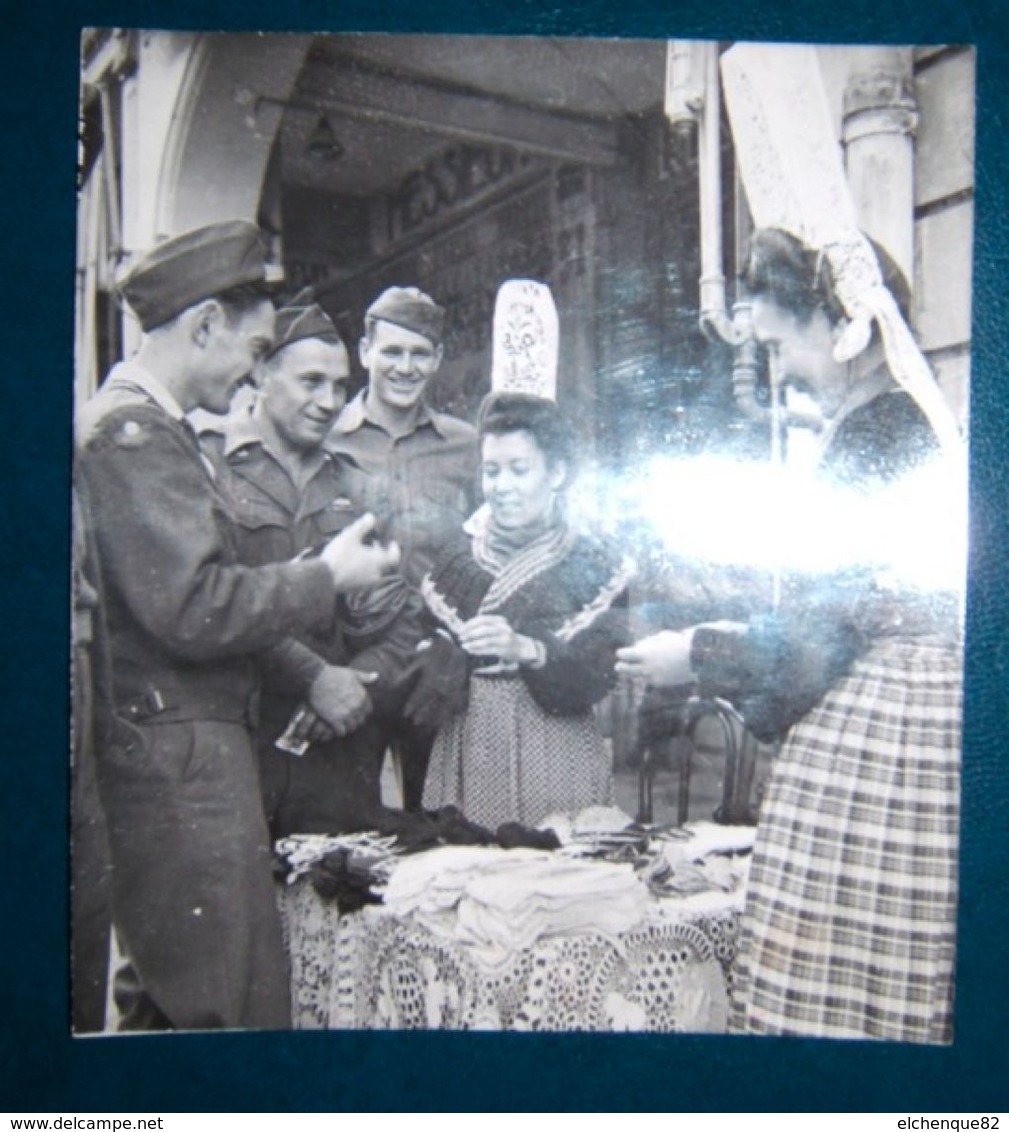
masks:
[[[867,241],[857,248],[873,255]],[[875,256],[899,301],[906,284]],[[848,266],[761,230],[742,280],[779,379],[823,413],[815,480],[828,503],[795,514],[794,528],[807,558],[823,535],[837,560],[786,575],[766,617],[657,634],[623,650],[618,668],[658,686],[700,679],[759,737],[783,738],[760,809],[734,1027],[942,1043],[952,1032],[961,649],[958,568],[944,583],[935,571],[955,557],[957,509],[935,469],[956,478],[956,460],[942,462],[934,402],[921,398],[926,415],[895,379],[899,316],[888,297],[883,333],[838,360]],[[915,577],[923,567],[937,577]]]

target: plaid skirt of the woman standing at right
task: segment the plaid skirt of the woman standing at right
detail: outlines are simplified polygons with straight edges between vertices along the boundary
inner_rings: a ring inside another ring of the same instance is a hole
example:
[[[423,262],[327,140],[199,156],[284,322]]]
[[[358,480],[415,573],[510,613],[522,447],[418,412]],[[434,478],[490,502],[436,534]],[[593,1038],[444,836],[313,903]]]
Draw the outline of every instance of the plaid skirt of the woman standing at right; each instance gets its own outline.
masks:
[[[961,652],[886,640],[789,732],[733,979],[749,1034],[952,1039]]]

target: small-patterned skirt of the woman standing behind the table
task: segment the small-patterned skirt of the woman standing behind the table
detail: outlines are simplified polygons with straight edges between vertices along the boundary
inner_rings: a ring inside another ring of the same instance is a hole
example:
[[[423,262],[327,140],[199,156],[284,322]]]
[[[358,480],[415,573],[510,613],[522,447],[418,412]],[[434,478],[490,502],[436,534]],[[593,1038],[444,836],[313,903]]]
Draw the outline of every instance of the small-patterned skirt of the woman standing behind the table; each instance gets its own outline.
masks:
[[[438,732],[424,806],[459,806],[490,830],[610,805],[613,761],[591,711],[548,715],[525,681],[473,676],[467,710]]]

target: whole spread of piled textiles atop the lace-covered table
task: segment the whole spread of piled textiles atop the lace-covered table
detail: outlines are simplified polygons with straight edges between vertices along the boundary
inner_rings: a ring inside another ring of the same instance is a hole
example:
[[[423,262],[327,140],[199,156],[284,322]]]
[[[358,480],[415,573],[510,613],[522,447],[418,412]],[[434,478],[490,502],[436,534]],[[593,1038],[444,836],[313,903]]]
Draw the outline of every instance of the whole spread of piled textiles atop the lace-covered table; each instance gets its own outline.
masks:
[[[632,931],[662,918],[662,898],[681,910],[722,908],[727,895],[742,901],[751,826],[639,826],[618,809],[592,807],[550,815],[541,827],[556,848],[504,848],[489,838],[428,847],[370,832],[290,837],[276,851],[288,883],[307,876],[342,912],[382,902],[490,961],[546,935]]]

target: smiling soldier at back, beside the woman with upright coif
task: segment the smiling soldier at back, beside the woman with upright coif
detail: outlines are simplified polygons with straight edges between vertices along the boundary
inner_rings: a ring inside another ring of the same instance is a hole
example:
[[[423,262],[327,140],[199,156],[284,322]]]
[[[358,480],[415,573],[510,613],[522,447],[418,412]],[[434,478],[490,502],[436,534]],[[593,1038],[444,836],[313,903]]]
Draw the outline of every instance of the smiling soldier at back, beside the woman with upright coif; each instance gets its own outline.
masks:
[[[368,385],[340,414],[328,440],[332,452],[351,456],[362,470],[352,489],[387,518],[412,585],[479,504],[476,429],[426,400],[442,365],[444,331],[444,308],[424,291],[383,291],[365,315],[358,348]],[[393,731],[403,803],[418,808],[434,735],[409,722]]]

